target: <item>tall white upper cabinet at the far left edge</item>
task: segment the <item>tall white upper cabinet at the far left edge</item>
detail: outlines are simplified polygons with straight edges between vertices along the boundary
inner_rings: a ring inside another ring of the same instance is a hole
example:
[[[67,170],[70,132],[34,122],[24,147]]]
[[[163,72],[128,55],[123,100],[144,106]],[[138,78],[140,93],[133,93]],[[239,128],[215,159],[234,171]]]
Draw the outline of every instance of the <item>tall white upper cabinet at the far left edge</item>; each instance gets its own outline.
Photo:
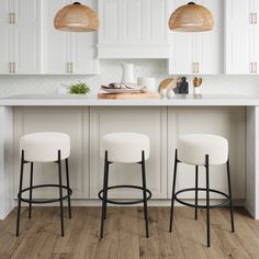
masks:
[[[0,7],[0,74],[40,74],[41,0],[1,0]]]

